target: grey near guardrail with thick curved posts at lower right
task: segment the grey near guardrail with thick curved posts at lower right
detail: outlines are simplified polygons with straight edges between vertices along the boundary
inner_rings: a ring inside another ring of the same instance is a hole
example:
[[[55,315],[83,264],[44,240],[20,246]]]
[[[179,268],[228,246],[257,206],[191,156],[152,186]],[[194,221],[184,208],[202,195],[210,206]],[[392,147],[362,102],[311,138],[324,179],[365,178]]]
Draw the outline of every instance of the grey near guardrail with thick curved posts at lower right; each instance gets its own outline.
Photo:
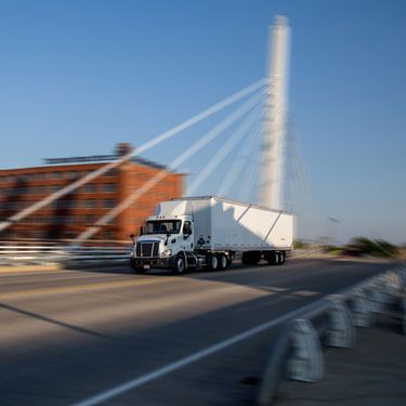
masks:
[[[406,267],[387,271],[323,299],[316,309],[280,326],[273,342],[258,396],[271,405],[283,379],[317,382],[323,378],[325,346],[352,348],[356,327],[369,327],[377,314],[400,313],[406,335]]]

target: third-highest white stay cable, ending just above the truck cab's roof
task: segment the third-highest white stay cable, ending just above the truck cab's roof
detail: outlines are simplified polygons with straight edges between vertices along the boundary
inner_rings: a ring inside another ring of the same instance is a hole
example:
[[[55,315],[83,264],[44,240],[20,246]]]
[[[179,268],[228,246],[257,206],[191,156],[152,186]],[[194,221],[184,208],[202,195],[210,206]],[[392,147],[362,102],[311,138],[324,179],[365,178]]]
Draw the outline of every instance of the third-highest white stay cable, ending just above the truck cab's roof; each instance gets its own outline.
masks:
[[[213,170],[223,161],[223,159],[234,149],[235,145],[249,132],[256,125],[260,117],[258,109],[252,113],[244,120],[224,145],[218,150],[218,153],[210,159],[200,173],[196,176],[193,183],[187,187],[186,196],[192,196],[198,187],[206,181],[206,179],[213,172]]]

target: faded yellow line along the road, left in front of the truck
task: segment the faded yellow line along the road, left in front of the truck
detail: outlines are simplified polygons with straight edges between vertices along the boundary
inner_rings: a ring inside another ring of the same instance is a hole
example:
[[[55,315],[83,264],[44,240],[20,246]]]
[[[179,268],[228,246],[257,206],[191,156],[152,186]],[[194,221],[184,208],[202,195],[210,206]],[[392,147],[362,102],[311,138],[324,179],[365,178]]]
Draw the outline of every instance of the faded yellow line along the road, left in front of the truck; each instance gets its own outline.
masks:
[[[43,289],[28,289],[28,290],[17,290],[14,292],[0,293],[0,300],[2,299],[15,299],[21,297],[36,297],[36,296],[47,296],[47,294],[56,294],[64,292],[77,292],[77,291],[88,291],[88,290],[100,290],[106,288],[122,288],[131,286],[144,286],[158,283],[165,283],[168,280],[184,280],[176,277],[163,277],[163,278],[154,278],[154,279],[136,279],[136,280],[113,280],[113,281],[101,281],[92,283],[86,285],[76,285],[76,286],[61,286],[61,287],[50,287]]]

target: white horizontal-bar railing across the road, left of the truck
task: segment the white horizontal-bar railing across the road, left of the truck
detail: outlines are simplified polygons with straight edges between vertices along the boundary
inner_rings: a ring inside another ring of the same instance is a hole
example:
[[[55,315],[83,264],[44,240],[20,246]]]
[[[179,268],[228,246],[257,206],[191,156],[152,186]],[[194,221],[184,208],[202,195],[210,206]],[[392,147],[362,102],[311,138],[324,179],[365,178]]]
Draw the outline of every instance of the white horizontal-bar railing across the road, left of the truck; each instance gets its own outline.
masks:
[[[131,247],[69,247],[51,245],[0,245],[0,265],[45,265],[128,262]]]

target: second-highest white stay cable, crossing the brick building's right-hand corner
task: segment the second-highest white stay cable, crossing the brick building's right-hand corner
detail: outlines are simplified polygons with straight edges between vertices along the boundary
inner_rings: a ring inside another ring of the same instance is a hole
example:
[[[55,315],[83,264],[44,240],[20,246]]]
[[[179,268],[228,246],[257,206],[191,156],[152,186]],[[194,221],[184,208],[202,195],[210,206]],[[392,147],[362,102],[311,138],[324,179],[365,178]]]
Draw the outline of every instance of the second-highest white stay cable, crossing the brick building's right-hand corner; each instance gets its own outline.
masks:
[[[217,137],[220,133],[222,133],[226,128],[232,126],[235,121],[237,121],[240,117],[245,114],[250,112],[259,102],[259,100],[263,96],[263,91],[256,93],[252,97],[250,97],[247,102],[245,102],[240,107],[238,107],[233,114],[227,116],[223,119],[220,123],[214,126],[205,136],[198,140],[195,144],[193,144],[188,149],[183,152],[179,155],[169,166],[168,169],[175,170],[178,169],[184,161],[191,158],[194,154],[200,150],[206,144]],[[81,233],[74,241],[73,245],[78,245],[99,232],[99,230],[108,224],[113,219],[115,219],[118,214],[120,214],[123,210],[126,210],[130,205],[136,201],[142,195],[146,192],[152,189],[157,183],[163,180],[168,175],[168,170],[159,171],[155,176],[149,179],[145,182],[140,188],[134,191],[131,195],[129,195],[126,199],[123,199],[118,206],[113,208],[109,212],[103,215],[94,225],[86,230]]]

